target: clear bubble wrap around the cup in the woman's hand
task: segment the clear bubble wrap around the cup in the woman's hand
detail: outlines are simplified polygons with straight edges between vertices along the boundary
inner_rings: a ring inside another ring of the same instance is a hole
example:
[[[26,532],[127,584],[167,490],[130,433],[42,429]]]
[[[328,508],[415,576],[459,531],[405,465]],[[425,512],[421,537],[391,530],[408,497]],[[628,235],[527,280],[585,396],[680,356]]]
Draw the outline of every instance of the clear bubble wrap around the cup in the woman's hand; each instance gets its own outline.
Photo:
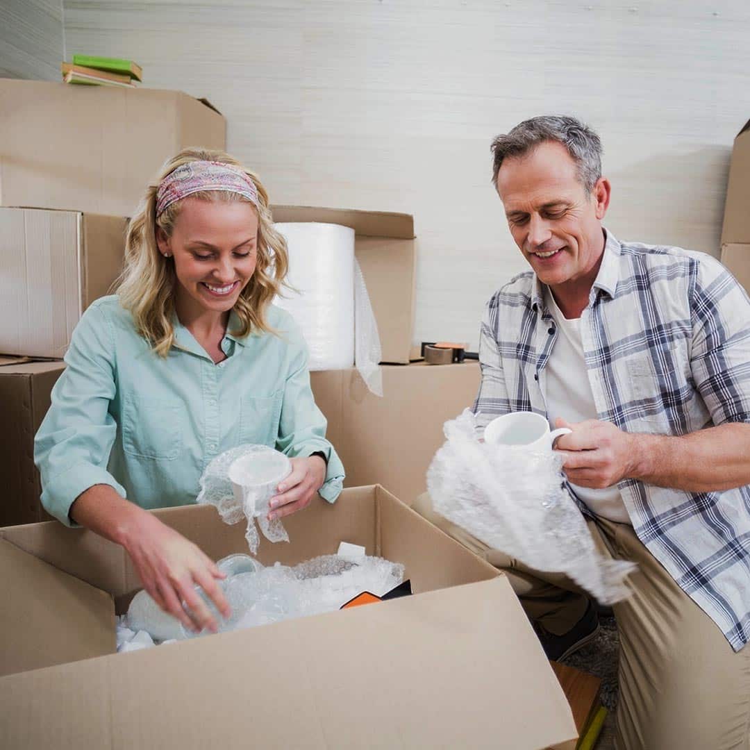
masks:
[[[255,527],[256,523],[269,541],[289,541],[289,536],[284,526],[281,525],[281,520],[275,518],[269,521],[267,517],[268,501],[276,494],[275,484],[278,483],[272,482],[259,489],[257,497],[253,499],[254,502],[243,505],[236,498],[232,482],[229,481],[229,466],[232,466],[238,458],[243,456],[267,451],[273,451],[273,449],[268,446],[244,445],[217,456],[205,467],[205,471],[200,478],[200,492],[196,497],[196,502],[199,505],[214,505],[224,523],[239,523],[243,518],[247,518],[248,530],[245,532],[245,538],[248,540],[248,546],[253,554],[258,551],[260,542]],[[254,508],[250,508],[250,505],[254,505]],[[265,508],[265,511],[263,508]]]

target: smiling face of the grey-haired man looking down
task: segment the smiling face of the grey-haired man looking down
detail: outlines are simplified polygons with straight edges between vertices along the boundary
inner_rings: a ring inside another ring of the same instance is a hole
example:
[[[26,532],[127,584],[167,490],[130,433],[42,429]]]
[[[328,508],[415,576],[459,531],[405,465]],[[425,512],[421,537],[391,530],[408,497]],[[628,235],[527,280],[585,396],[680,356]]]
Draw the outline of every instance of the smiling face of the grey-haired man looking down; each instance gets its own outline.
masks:
[[[609,182],[600,178],[586,193],[565,146],[549,141],[503,160],[497,192],[513,239],[539,280],[563,292],[564,285],[590,287],[604,249]]]

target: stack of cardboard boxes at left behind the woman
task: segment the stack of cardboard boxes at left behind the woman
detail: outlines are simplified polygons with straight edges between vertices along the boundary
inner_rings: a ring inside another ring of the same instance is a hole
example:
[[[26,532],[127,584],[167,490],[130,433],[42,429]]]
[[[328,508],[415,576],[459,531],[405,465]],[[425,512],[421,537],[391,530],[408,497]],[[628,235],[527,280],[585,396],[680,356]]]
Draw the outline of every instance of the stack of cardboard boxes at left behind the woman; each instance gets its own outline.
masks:
[[[34,433],[83,311],[121,271],[126,219],[180,148],[224,148],[226,122],[181,92],[0,80],[0,523],[46,514]],[[110,214],[110,215],[106,215]]]

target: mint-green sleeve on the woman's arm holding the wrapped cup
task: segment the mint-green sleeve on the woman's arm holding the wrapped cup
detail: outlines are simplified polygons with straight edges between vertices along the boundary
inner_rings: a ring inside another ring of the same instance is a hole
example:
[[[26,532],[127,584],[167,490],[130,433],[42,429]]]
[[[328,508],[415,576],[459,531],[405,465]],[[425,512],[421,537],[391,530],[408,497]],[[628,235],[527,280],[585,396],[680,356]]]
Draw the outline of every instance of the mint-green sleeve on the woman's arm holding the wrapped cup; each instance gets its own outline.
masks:
[[[334,502],[344,487],[344,464],[334,447],[326,440],[328,422],[315,404],[310,387],[308,349],[298,330],[289,332],[290,373],[284,383],[284,401],[276,444],[290,458],[307,457],[314,453],[326,456],[326,481],[320,487],[320,496]]]

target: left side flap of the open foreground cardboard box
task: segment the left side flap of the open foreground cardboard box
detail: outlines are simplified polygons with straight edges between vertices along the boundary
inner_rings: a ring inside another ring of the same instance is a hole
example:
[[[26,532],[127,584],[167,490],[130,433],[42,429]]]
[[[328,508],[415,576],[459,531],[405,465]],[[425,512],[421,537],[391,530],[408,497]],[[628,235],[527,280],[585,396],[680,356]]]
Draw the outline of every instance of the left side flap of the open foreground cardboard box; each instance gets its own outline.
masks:
[[[115,651],[115,607],[106,592],[2,539],[0,570],[0,674]]]

